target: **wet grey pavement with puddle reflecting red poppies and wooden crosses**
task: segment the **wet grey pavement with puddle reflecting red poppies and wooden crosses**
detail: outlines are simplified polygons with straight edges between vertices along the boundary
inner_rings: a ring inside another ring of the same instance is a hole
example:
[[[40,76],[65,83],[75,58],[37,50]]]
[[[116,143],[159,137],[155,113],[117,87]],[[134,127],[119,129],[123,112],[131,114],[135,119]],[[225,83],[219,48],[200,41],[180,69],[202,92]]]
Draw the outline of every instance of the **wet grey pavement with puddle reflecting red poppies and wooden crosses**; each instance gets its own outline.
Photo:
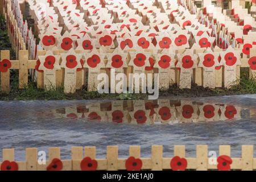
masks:
[[[216,152],[229,144],[237,157],[243,144],[256,143],[256,95],[0,101],[0,108],[0,149],[15,148],[16,160],[25,159],[26,147],[60,147],[61,157],[69,159],[72,146],[96,146],[97,158],[104,158],[109,145],[118,145],[119,157],[126,157],[130,145],[140,145],[141,155],[150,156],[154,144],[163,145],[164,156],[172,156],[174,145],[185,145],[186,155],[195,156],[197,144]]]

